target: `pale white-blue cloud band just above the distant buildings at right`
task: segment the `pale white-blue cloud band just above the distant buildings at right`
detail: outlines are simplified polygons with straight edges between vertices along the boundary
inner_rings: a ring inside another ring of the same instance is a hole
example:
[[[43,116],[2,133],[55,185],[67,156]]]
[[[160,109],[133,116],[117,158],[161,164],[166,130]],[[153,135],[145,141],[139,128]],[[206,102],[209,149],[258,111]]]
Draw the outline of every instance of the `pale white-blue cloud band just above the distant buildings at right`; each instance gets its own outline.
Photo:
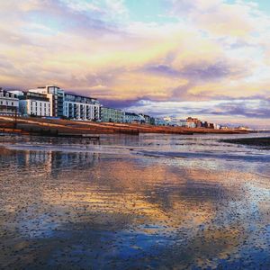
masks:
[[[186,118],[198,117],[201,120],[220,123],[242,123],[251,127],[270,128],[270,99],[211,100],[200,102],[156,102],[140,100],[131,107],[132,112],[145,112],[155,116]],[[153,113],[152,113],[153,114]]]

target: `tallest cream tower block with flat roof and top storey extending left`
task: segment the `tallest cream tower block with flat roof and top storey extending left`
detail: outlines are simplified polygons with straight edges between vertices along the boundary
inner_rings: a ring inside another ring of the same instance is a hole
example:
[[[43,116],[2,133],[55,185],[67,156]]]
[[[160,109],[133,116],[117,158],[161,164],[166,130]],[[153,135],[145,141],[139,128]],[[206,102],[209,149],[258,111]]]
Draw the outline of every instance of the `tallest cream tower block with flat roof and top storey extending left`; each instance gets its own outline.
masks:
[[[31,93],[46,94],[49,98],[50,112],[53,117],[64,116],[64,91],[57,85],[46,85],[35,89],[30,89]]]

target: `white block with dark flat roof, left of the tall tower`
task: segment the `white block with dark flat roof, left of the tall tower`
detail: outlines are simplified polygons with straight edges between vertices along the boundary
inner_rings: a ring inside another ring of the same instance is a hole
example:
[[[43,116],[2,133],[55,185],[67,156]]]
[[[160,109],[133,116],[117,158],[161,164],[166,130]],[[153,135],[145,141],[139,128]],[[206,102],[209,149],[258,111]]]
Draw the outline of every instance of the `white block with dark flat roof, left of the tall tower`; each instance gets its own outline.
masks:
[[[22,115],[52,116],[49,98],[46,94],[16,91],[19,98],[19,111]]]

